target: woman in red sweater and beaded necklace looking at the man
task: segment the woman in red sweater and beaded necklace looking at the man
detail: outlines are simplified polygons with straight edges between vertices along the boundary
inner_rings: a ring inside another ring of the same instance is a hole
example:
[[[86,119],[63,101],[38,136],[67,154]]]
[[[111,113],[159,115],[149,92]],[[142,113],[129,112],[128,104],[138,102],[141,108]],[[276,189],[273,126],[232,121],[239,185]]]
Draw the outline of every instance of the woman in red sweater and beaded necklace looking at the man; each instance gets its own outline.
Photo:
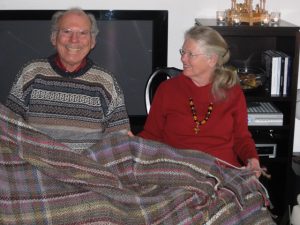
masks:
[[[197,149],[259,176],[245,96],[237,74],[224,67],[227,43],[212,28],[194,26],[185,33],[180,54],[183,72],[159,86],[139,136]]]

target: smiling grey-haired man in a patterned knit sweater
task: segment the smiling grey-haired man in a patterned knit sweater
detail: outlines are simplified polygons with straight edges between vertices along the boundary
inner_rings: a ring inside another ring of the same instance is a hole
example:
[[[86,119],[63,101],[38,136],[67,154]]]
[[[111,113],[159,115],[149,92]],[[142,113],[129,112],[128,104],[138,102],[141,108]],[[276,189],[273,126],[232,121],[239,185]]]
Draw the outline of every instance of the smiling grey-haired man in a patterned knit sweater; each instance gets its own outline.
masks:
[[[87,57],[97,34],[93,15],[80,9],[55,13],[51,43],[57,53],[25,65],[6,103],[28,124],[77,151],[103,134],[129,130],[115,77]],[[78,140],[83,133],[85,141]]]

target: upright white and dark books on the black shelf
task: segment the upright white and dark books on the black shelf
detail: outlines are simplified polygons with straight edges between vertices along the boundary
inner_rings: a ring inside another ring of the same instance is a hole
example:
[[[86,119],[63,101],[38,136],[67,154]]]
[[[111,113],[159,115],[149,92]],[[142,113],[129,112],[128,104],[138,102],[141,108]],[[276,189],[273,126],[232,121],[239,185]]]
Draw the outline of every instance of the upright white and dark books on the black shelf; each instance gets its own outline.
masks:
[[[291,57],[284,52],[266,50],[262,55],[266,69],[266,88],[271,95],[288,95],[292,72]]]

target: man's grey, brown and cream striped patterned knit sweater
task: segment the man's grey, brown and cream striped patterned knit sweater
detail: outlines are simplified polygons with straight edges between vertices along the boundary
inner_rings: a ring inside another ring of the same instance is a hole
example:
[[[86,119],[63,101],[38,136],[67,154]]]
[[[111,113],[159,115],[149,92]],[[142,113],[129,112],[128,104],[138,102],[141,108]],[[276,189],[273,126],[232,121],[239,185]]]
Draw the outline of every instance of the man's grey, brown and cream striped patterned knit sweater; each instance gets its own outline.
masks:
[[[6,105],[31,126],[77,151],[105,133],[130,129],[115,77],[90,59],[72,73],[60,69],[54,56],[31,61],[19,72]],[[82,134],[84,143],[79,140]]]

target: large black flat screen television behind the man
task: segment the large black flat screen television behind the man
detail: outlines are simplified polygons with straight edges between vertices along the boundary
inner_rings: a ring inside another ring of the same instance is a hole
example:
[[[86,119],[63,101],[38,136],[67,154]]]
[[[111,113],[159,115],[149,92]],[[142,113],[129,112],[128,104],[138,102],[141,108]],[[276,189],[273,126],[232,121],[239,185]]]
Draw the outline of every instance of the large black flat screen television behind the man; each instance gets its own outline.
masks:
[[[3,103],[21,66],[54,53],[50,20],[56,10],[0,10],[0,101]],[[146,116],[148,77],[167,65],[168,11],[87,10],[100,32],[90,53],[116,76],[130,117]]]

